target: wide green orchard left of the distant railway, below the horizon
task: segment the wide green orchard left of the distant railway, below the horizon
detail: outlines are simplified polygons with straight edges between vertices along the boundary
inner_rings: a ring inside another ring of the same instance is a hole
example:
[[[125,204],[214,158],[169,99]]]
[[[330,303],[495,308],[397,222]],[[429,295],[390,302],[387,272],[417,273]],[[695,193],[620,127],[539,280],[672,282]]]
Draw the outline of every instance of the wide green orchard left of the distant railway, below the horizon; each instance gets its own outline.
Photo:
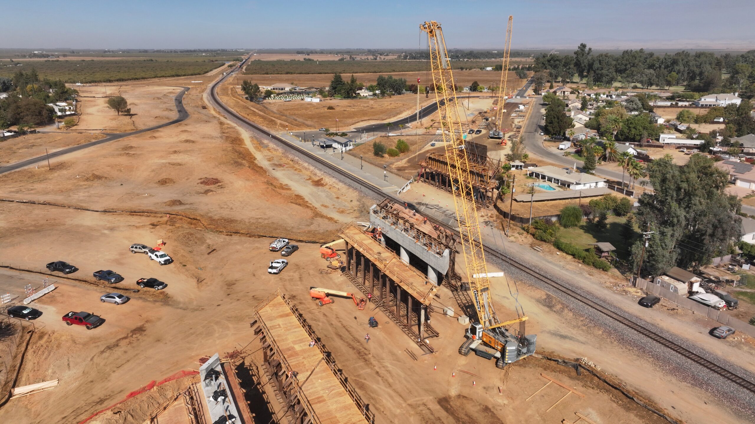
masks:
[[[223,61],[207,60],[0,60],[0,77],[12,77],[18,71],[36,69],[39,75],[68,83],[130,81],[200,75],[224,66]]]

